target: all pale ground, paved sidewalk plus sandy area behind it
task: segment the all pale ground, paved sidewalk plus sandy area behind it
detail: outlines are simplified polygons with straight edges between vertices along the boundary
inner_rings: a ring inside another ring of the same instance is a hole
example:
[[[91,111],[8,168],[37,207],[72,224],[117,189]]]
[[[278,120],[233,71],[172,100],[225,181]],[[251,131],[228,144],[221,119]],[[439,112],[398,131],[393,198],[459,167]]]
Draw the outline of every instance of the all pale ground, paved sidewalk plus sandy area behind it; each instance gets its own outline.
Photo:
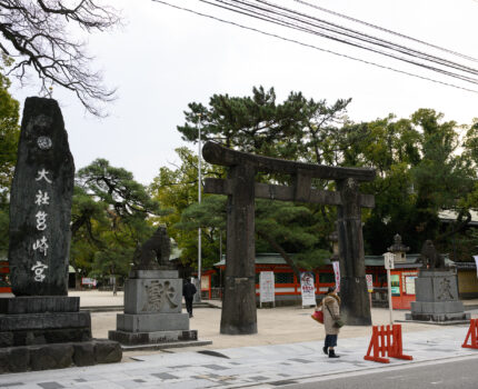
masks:
[[[119,307],[122,295],[111,292],[71,292],[80,296],[81,306],[94,307],[92,331],[106,338],[116,328],[118,311],[98,311],[100,307]],[[466,301],[475,308],[478,301]],[[220,305],[210,301],[211,305]],[[472,318],[478,310],[468,309]],[[125,352],[121,363],[97,365],[27,373],[0,375],[0,388],[14,389],[130,389],[130,388],[277,388],[288,383],[310,382],[342,373],[382,371],[451,360],[478,360],[478,350],[461,348],[468,326],[432,326],[401,323],[404,353],[412,361],[390,359],[390,365],[364,360],[370,341],[370,327],[342,328],[337,353],[331,360],[321,351],[323,327],[310,318],[312,309],[281,307],[258,309],[257,335],[223,336],[219,333],[218,308],[197,308],[191,329],[210,346],[156,351]],[[404,319],[405,311],[395,311]],[[387,325],[388,309],[372,309],[375,325]]]

